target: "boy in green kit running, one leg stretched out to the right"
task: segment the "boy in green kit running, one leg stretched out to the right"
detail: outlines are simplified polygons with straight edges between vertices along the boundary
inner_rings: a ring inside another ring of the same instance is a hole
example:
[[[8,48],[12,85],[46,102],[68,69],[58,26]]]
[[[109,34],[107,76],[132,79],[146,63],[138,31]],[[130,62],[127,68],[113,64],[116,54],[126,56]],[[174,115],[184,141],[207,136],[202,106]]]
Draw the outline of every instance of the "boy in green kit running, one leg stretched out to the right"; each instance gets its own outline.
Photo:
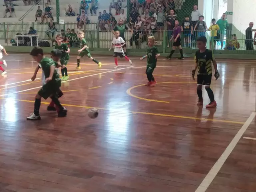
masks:
[[[98,62],[96,59],[92,58],[91,54],[90,54],[90,51],[89,51],[89,47],[86,45],[86,40],[84,38],[84,32],[83,31],[80,31],[78,33],[78,36],[80,38],[80,47],[81,49],[78,50],[78,56],[76,57],[77,58],[77,67],[76,69],[81,69],[80,67],[80,58],[83,57],[83,56],[88,56],[88,58],[90,58],[93,62],[95,62],[96,64],[98,64],[98,67],[101,68],[101,62]]]

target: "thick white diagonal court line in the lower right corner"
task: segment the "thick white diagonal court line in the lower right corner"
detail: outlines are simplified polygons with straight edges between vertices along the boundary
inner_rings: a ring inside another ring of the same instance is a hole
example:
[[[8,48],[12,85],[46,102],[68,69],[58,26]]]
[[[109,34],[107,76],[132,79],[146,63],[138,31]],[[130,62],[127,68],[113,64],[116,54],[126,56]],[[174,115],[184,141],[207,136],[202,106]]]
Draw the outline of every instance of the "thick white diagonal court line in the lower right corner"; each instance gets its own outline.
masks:
[[[211,170],[208,172],[200,186],[196,189],[196,192],[206,192],[218,172],[220,171],[220,168],[223,166],[224,162],[227,160],[230,153],[234,150],[236,144],[238,144],[239,140],[242,138],[244,132],[247,130],[248,126],[252,122],[256,115],[256,112],[252,112],[252,114],[249,116],[249,118],[246,120],[244,125],[240,128],[240,130],[237,132],[236,136],[233,138],[233,140],[230,142],[230,144],[227,146],[226,150],[222,153],[220,158],[217,160],[217,162],[214,164],[214,166],[211,168]]]

